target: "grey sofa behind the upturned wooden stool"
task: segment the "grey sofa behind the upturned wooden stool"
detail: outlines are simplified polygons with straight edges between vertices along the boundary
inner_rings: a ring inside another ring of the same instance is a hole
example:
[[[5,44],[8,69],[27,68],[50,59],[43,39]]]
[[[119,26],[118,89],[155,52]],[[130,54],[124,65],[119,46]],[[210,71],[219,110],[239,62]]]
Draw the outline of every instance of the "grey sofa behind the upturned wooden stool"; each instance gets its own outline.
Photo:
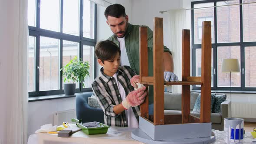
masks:
[[[193,112],[193,108],[199,94],[198,92],[190,93],[190,114],[197,117],[200,117],[200,113]],[[164,115],[181,115],[181,94],[164,93]],[[224,118],[230,115],[231,103],[230,100],[225,100],[220,105],[220,113],[211,113],[212,129],[223,131]]]

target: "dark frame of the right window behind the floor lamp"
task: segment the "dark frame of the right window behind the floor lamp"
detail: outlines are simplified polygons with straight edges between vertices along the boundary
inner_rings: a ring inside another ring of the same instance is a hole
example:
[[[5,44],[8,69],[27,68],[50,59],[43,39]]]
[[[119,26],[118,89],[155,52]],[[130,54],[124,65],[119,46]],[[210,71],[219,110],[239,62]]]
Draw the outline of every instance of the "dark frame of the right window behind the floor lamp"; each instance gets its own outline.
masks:
[[[228,0],[203,0],[203,1],[193,1],[191,2],[191,33],[192,33],[192,75],[196,75],[196,49],[201,49],[201,44],[195,44],[194,43],[194,4],[199,3],[213,3],[214,4],[214,43],[212,43],[213,48],[213,87],[211,87],[211,90],[216,91],[230,91],[230,87],[218,87],[217,86],[217,76],[218,76],[218,68],[217,68],[217,48],[218,46],[240,46],[240,68],[241,68],[241,86],[240,87],[232,87],[233,91],[255,91],[256,87],[245,87],[245,72],[242,72],[244,69],[245,71],[245,47],[246,46],[256,46],[255,42],[243,42],[243,5],[239,6],[240,10],[240,42],[234,42],[234,43],[218,43],[217,41],[217,2],[221,1],[228,1]],[[243,2],[243,0],[239,0],[240,3]],[[200,90],[201,87],[198,87],[196,85],[192,86],[192,90]]]

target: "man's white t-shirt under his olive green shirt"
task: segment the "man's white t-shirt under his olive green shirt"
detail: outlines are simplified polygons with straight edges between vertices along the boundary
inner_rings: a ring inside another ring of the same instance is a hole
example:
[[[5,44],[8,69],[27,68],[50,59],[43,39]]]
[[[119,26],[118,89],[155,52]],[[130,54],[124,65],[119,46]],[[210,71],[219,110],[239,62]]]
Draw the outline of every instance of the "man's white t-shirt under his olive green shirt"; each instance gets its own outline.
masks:
[[[120,56],[120,65],[128,65],[131,67],[130,63],[129,63],[129,59],[127,56],[127,52],[126,52],[126,48],[125,48],[125,37],[123,38],[117,38],[119,41],[119,46],[120,46],[120,50],[121,50],[121,56]]]

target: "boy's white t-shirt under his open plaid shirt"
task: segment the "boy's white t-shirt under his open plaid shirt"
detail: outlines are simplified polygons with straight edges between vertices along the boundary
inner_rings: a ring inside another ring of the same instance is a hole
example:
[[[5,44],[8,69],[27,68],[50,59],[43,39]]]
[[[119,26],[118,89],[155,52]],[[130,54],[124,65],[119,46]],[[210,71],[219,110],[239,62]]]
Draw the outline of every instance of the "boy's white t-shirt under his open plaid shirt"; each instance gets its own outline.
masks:
[[[115,73],[115,75],[113,75],[113,78],[115,78],[116,83],[118,84],[118,89],[122,98],[122,101],[125,99],[126,95],[125,95],[125,89],[124,87],[121,85],[120,82],[118,82],[117,80],[117,73]],[[138,128],[139,127],[139,123],[134,115],[134,112],[132,111],[132,108],[129,108],[128,110],[125,110],[125,115],[126,115],[126,119],[128,121],[128,127],[129,128]]]

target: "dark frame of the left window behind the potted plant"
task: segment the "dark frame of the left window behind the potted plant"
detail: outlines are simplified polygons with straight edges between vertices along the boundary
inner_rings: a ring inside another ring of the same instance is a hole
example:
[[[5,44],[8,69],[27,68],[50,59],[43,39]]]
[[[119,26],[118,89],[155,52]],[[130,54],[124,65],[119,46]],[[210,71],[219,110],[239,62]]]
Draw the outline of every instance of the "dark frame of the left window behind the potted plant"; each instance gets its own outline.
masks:
[[[62,72],[59,72],[59,89],[58,90],[48,90],[48,91],[39,91],[39,69],[37,69],[37,66],[39,65],[39,55],[40,55],[40,42],[39,38],[40,36],[45,36],[49,38],[55,38],[60,40],[60,48],[59,48],[59,68],[62,68],[62,48],[63,48],[63,40],[72,41],[79,43],[79,59],[83,58],[83,45],[87,46],[93,46],[96,45],[96,37],[97,37],[97,5],[94,3],[94,38],[89,39],[83,37],[83,0],[79,0],[80,6],[79,6],[79,36],[69,35],[63,32],[63,0],[59,0],[60,2],[60,32],[55,32],[47,29],[41,29],[40,28],[40,0],[35,0],[36,2],[36,9],[35,9],[35,26],[28,26],[29,28],[29,36],[34,36],[36,39],[35,43],[35,62],[34,62],[34,85],[35,85],[35,91],[29,92],[29,98],[31,97],[37,97],[37,96],[46,96],[46,95],[60,95],[64,94],[64,90],[62,89]],[[96,58],[93,55],[94,59],[94,65],[93,68],[93,79],[96,78]],[[92,92],[92,88],[82,88],[82,83],[79,83],[79,88],[75,89],[75,92]]]

